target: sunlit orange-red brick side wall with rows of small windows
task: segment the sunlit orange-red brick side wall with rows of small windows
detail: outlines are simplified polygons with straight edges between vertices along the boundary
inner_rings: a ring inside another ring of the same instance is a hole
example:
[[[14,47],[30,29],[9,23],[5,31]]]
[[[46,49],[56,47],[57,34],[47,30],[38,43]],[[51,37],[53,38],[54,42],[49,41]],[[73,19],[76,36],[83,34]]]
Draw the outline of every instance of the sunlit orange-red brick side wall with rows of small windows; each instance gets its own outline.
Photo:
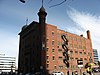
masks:
[[[83,59],[83,65],[89,62],[89,58],[90,58],[89,55],[93,54],[92,43],[91,43],[91,40],[88,39],[90,38],[90,34],[89,36],[87,34],[88,38],[85,38],[83,36],[65,32],[63,30],[59,30],[57,29],[56,26],[53,26],[50,24],[46,26],[46,31],[47,31],[46,35],[47,35],[47,48],[48,48],[46,52],[48,59],[46,61],[47,61],[47,64],[49,65],[47,67],[49,72],[62,71],[66,73],[65,64],[63,63],[63,60],[62,60],[64,58],[62,55],[63,49],[61,46],[61,44],[63,43],[61,39],[62,34],[65,34],[66,37],[68,38],[69,51],[73,52],[69,54],[69,57],[70,57],[69,69],[72,71],[71,66],[74,66],[73,71],[79,70],[79,68],[77,68],[77,59]],[[52,32],[54,33],[54,36],[52,35]],[[54,41],[54,46],[52,46],[52,41]],[[52,52],[52,49],[54,49],[54,52]],[[61,51],[59,52],[58,49],[61,49]],[[75,52],[78,52],[78,53],[75,53]],[[52,59],[53,56],[54,56],[54,60]],[[93,56],[91,57],[93,59]],[[59,66],[62,66],[62,67],[59,67]]]

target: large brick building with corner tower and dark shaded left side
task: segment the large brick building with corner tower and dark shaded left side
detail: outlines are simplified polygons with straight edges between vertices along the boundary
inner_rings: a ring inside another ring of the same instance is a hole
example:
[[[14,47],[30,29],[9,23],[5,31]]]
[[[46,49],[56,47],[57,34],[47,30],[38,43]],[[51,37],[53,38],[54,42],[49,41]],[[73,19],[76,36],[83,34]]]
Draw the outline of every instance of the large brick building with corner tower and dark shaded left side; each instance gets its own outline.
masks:
[[[76,35],[57,26],[46,24],[46,11],[42,6],[38,12],[39,23],[33,21],[29,25],[22,27],[19,43],[18,72],[33,73],[79,71],[77,60],[83,60],[83,66],[93,60],[93,51],[90,31],[87,31],[87,38],[83,35]],[[61,35],[66,35],[68,39],[69,63],[67,68],[63,62],[63,49]],[[84,67],[82,68],[84,70]],[[46,74],[46,75],[47,75]]]

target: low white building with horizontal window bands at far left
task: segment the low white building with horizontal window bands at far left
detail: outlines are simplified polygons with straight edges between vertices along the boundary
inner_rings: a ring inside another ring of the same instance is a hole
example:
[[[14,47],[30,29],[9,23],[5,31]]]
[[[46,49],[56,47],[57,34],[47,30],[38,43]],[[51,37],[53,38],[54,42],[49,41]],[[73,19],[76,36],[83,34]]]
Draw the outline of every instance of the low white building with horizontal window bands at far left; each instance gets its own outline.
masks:
[[[15,72],[16,58],[0,54],[0,73],[2,72]]]

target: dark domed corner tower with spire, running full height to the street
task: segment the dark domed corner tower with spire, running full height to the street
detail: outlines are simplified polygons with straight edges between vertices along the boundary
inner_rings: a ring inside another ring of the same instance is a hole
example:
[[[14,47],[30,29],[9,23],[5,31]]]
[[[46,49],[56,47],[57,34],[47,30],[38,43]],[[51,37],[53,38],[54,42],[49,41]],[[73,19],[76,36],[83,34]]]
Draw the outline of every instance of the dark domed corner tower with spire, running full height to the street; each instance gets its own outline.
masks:
[[[43,7],[43,0],[42,0],[42,6],[38,12],[39,16],[39,31],[40,31],[40,45],[41,45],[41,72],[46,73],[46,11],[45,8]]]

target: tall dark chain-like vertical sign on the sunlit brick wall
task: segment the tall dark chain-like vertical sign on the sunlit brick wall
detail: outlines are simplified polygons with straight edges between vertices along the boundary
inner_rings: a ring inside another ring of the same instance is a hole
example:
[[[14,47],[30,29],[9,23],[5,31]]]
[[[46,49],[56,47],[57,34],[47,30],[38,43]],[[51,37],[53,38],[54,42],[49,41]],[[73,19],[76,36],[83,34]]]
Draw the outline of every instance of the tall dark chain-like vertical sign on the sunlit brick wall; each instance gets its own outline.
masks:
[[[63,62],[66,64],[67,68],[69,67],[69,56],[68,56],[68,40],[66,38],[65,35],[62,35],[61,36],[62,40],[63,40],[63,44],[62,44],[62,48],[64,49],[64,52],[63,52],[63,56],[64,56],[64,59],[63,59]]]

